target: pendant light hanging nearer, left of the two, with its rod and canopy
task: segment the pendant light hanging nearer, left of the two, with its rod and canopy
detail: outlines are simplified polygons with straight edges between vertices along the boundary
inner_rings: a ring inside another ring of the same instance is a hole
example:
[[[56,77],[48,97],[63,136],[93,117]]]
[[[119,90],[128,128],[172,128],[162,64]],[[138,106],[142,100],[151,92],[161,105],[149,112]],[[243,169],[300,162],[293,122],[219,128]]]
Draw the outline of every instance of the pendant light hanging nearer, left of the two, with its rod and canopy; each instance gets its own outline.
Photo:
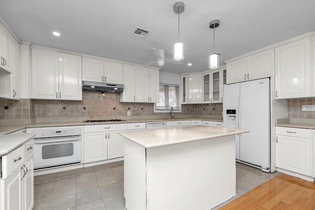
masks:
[[[173,60],[184,60],[184,43],[179,41],[179,14],[184,12],[185,4],[182,1],[174,3],[173,11],[178,14],[178,39],[177,43],[173,45]]]

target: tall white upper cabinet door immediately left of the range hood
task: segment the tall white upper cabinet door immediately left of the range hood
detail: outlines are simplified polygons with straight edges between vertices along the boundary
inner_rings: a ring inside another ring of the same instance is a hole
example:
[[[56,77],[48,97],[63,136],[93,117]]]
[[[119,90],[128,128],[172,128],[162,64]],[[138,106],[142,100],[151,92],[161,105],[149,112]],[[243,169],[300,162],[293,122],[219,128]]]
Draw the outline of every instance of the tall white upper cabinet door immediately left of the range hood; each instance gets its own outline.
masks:
[[[59,54],[59,99],[82,100],[82,57]]]

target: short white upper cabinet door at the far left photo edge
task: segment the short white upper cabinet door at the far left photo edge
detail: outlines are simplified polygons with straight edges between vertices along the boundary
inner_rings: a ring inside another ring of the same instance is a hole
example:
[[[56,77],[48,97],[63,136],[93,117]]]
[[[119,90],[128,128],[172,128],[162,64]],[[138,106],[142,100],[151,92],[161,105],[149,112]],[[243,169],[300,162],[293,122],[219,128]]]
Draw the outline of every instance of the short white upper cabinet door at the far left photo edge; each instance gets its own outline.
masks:
[[[5,69],[8,72],[12,72],[12,58],[13,58],[13,47],[12,41],[13,37],[11,33],[1,24],[1,68]]]

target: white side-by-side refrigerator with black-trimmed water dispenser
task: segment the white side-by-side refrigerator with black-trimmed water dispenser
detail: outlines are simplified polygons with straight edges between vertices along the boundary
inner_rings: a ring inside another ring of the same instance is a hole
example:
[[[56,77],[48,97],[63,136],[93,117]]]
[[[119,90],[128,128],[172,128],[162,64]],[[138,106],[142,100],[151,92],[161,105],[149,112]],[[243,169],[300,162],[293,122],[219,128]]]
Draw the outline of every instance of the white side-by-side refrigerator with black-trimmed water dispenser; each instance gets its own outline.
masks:
[[[223,89],[223,127],[250,131],[235,136],[236,161],[270,172],[270,79]]]

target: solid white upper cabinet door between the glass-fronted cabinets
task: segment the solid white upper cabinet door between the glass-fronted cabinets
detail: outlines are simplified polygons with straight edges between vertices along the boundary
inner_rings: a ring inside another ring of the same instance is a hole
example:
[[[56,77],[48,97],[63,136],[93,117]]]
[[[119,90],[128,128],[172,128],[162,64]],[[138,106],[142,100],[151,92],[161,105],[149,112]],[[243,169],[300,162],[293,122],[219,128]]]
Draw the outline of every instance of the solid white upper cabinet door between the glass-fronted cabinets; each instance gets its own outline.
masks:
[[[202,78],[201,74],[189,74],[189,103],[202,102]]]

